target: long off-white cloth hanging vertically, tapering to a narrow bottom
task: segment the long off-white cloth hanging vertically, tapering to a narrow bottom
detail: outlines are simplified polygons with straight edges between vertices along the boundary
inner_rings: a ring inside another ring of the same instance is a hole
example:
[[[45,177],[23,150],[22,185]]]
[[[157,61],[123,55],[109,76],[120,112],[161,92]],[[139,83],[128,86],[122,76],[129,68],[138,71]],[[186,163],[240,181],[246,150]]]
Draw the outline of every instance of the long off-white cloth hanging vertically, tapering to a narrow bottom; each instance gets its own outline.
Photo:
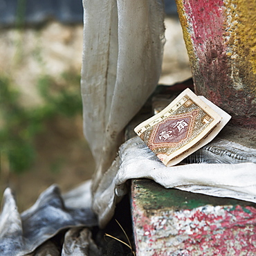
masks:
[[[122,131],[161,73],[163,2],[84,0],[84,135],[96,163],[92,192],[116,157]]]

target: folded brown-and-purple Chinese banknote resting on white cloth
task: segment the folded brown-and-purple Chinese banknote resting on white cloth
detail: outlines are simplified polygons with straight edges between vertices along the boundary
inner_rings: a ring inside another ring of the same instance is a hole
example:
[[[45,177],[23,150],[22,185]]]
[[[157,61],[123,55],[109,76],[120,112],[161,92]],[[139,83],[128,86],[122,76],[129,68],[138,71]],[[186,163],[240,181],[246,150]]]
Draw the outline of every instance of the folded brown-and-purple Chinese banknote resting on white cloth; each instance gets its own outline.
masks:
[[[230,118],[203,96],[185,89],[134,131],[166,166],[172,166],[209,143]]]

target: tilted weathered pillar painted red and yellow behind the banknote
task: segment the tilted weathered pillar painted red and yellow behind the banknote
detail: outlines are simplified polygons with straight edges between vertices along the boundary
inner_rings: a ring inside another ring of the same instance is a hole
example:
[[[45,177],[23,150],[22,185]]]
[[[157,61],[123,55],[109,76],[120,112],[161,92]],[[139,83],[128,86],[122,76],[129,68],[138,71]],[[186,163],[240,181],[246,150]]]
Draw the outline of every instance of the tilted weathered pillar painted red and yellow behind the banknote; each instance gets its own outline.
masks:
[[[198,95],[256,129],[255,0],[176,0]]]

